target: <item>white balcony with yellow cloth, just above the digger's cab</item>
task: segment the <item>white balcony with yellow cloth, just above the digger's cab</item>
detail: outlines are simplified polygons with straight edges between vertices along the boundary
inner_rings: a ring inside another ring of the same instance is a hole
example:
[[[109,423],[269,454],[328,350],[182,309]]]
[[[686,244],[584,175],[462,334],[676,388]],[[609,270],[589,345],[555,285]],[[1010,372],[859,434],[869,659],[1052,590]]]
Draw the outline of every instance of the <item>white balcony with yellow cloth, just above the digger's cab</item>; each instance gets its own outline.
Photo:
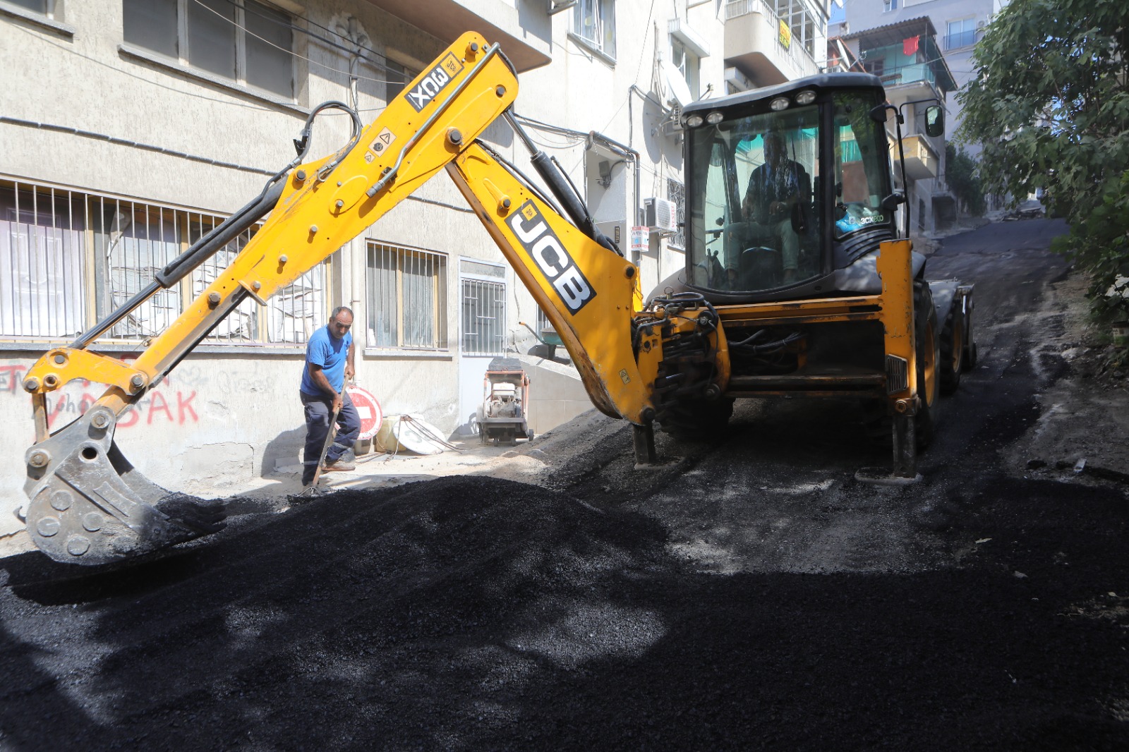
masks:
[[[797,40],[780,42],[780,20],[764,0],[729,0],[725,6],[725,62],[756,86],[784,84],[820,72]]]

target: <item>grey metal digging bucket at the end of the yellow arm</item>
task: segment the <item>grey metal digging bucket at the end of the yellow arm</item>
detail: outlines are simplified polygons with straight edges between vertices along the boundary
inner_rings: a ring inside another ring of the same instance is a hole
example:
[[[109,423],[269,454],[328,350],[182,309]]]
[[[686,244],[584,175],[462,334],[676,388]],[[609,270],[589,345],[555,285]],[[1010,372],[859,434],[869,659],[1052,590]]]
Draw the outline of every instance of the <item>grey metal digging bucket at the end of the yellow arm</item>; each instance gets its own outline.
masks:
[[[163,489],[114,443],[115,417],[95,409],[28,449],[27,531],[55,561],[97,566],[216,533],[222,501]]]

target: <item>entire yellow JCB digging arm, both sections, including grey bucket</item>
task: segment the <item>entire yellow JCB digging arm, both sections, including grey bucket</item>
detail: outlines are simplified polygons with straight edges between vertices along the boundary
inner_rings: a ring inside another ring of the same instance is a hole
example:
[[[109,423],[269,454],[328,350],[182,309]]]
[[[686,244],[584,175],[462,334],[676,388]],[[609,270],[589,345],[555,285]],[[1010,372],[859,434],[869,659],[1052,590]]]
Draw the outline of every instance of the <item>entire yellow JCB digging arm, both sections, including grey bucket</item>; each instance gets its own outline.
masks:
[[[516,75],[498,45],[464,34],[370,125],[361,128],[349,111],[353,134],[338,154],[304,164],[296,159],[255,201],[169,264],[133,300],[72,346],[40,358],[24,382],[36,416],[25,483],[27,528],[36,545],[58,561],[100,565],[222,527],[219,505],[170,493],[130,465],[113,440],[117,417],[243,300],[264,303],[441,168],[548,313],[593,403],[634,423],[637,449],[639,441],[649,441],[653,454],[650,390],[662,346],[654,325],[637,325],[633,318],[638,270],[594,228],[575,193],[561,195],[550,186],[572,224],[551,199],[476,141],[504,114],[524,138],[508,113],[516,96]],[[348,111],[329,103],[314,115],[326,106]],[[308,140],[314,115],[301,141]],[[545,176],[542,167],[539,172]],[[266,212],[269,218],[227,270],[137,360],[125,364],[87,349],[129,311],[178,282]],[[49,435],[46,394],[75,379],[108,388],[78,420]]]

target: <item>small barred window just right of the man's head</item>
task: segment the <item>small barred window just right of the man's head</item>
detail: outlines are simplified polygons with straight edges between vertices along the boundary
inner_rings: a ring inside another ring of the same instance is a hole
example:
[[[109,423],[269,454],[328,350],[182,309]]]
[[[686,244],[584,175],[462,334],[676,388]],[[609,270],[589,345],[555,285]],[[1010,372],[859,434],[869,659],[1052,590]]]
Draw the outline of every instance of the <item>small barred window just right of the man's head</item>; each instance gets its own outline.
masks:
[[[368,347],[447,348],[447,256],[368,242]]]

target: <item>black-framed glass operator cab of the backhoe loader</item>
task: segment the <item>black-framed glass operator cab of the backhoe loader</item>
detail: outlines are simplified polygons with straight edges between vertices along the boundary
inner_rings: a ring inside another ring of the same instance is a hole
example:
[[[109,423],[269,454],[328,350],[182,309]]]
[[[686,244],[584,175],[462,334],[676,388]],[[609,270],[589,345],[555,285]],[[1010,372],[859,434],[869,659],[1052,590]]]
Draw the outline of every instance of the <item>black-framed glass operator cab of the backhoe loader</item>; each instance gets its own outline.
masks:
[[[842,270],[895,236],[884,103],[876,77],[835,73],[689,105],[683,289],[718,303],[842,289]]]

